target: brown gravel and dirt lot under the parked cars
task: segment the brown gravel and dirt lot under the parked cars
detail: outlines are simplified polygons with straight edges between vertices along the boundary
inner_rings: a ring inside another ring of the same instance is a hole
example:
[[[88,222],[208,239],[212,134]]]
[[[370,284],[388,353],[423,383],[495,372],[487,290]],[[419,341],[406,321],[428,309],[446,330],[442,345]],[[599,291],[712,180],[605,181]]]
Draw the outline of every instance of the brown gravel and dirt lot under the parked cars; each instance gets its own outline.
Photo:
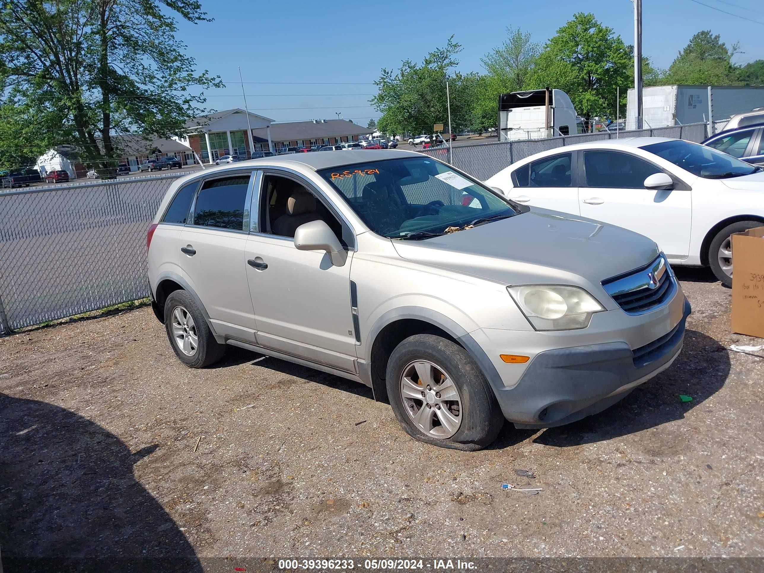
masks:
[[[477,453],[414,442],[366,387],[273,358],[231,348],[189,370],[148,308],[0,339],[6,571],[31,558],[190,571],[228,557],[233,571],[269,556],[762,557],[764,360],[727,351],[761,340],[730,334],[730,291],[710,274],[678,274],[694,312],[674,366],[604,413],[507,424]]]

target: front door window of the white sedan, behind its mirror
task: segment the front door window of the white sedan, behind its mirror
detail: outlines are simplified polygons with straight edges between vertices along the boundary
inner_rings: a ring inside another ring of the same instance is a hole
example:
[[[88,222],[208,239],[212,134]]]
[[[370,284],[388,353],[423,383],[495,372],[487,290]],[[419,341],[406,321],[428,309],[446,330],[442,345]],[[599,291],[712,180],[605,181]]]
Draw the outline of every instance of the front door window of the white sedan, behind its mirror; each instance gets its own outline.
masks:
[[[586,186],[644,189],[645,180],[661,170],[631,154],[617,151],[584,151]]]

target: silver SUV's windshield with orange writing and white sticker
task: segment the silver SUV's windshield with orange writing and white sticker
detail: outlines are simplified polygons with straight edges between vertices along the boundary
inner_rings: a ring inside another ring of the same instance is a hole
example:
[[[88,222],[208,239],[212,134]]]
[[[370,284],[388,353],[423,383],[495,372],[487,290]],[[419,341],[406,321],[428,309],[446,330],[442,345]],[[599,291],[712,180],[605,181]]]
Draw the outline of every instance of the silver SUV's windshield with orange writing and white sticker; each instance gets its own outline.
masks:
[[[510,203],[429,157],[319,170],[366,225],[388,238],[428,238],[516,215]]]

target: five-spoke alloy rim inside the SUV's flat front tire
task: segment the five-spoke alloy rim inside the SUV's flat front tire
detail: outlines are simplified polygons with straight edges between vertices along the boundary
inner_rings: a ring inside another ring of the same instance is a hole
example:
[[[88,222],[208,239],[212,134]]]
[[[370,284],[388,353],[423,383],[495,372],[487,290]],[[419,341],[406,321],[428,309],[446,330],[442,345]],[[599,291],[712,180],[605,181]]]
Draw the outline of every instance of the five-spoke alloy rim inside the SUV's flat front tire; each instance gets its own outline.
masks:
[[[403,410],[432,438],[450,438],[461,426],[461,396],[442,367],[426,360],[410,362],[400,377],[400,394]]]

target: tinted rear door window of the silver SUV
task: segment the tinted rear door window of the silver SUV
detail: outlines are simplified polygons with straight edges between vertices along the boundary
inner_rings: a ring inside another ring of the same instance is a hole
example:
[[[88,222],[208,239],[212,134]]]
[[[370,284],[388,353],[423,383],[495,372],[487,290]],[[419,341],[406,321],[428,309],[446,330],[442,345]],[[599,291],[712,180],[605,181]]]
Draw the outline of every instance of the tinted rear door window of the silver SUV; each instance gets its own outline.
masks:
[[[202,227],[244,229],[244,202],[249,175],[207,181],[196,197],[193,223]]]

